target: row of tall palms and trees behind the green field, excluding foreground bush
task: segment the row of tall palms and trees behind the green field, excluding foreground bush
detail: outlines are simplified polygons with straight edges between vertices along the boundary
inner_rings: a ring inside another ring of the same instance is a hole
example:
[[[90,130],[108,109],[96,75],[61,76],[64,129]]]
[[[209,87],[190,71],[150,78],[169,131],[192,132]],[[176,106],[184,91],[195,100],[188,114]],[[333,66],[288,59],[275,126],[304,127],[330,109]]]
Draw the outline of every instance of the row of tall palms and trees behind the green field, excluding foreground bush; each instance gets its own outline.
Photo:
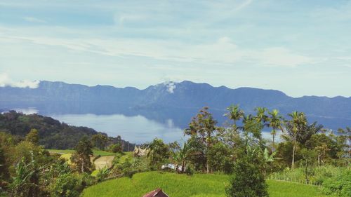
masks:
[[[182,161],[174,162],[190,165],[199,172],[231,172],[233,164],[247,154],[247,147],[257,147],[267,159],[272,158],[270,165],[266,166],[267,172],[305,166],[306,161],[307,165],[316,166],[350,165],[349,127],[333,131],[317,122],[309,123],[303,112],[293,111],[288,115],[289,118],[285,119],[279,111],[261,107],[254,115],[244,114],[233,105],[224,114],[228,118],[227,125],[220,127],[204,107],[185,129],[184,134],[189,139],[183,147],[178,142],[164,144],[169,153],[163,158],[172,158],[174,152],[183,151]],[[271,130],[271,139],[263,137],[263,130]],[[159,140],[149,144],[151,151],[154,144],[161,143]],[[163,162],[158,162],[155,167]]]

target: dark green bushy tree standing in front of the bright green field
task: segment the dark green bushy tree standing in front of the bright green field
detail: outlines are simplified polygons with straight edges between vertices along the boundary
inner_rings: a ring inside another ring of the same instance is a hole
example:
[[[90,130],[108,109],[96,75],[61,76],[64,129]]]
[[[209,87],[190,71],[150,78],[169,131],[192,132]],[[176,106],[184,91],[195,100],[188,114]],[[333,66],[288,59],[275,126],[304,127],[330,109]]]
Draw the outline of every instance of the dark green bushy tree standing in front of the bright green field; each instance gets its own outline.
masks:
[[[230,185],[226,188],[228,197],[261,197],[268,196],[265,177],[260,170],[262,161],[258,147],[246,148],[246,155],[234,164]]]

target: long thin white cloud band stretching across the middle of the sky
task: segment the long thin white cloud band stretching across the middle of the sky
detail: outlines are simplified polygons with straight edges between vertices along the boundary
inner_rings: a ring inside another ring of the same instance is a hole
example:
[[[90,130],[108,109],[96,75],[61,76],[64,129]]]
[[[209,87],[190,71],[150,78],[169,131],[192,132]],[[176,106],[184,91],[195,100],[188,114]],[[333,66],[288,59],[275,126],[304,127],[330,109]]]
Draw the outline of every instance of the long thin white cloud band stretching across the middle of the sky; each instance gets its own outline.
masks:
[[[296,67],[315,62],[312,57],[300,55],[281,46],[262,49],[242,48],[227,36],[208,43],[184,43],[158,39],[61,39],[47,36],[11,36],[10,34],[0,35],[0,40],[59,46],[79,53],[96,53],[113,57],[140,56],[155,60],[202,64],[244,62],[265,67]]]

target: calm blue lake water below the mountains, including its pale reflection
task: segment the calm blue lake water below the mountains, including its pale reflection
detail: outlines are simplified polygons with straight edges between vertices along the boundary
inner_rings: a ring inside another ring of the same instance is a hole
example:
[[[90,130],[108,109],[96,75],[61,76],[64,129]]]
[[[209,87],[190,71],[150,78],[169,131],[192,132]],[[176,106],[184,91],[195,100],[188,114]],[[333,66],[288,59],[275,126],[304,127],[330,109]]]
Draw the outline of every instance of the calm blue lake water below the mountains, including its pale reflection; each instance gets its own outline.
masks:
[[[121,135],[124,140],[133,143],[150,142],[159,137],[164,142],[181,142],[187,137],[183,130],[191,121],[197,109],[113,109],[98,111],[97,109],[60,107],[11,107],[24,114],[41,114],[51,116],[69,125],[86,126],[97,131],[107,133],[111,137]],[[100,108],[99,108],[100,109]],[[116,111],[116,113],[113,113]],[[223,111],[212,111],[219,125],[223,125]],[[265,138],[271,139],[270,131],[263,133]],[[279,138],[277,137],[277,140]]]

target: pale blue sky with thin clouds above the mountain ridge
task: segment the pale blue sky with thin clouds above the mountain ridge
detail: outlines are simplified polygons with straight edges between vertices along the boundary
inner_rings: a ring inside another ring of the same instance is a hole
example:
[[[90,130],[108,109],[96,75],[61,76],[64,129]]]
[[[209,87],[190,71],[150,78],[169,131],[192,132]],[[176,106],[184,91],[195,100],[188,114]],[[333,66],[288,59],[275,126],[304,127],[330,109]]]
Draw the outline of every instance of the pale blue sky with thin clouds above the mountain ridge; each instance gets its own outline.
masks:
[[[194,81],[351,96],[351,1],[0,1],[0,86]]]

